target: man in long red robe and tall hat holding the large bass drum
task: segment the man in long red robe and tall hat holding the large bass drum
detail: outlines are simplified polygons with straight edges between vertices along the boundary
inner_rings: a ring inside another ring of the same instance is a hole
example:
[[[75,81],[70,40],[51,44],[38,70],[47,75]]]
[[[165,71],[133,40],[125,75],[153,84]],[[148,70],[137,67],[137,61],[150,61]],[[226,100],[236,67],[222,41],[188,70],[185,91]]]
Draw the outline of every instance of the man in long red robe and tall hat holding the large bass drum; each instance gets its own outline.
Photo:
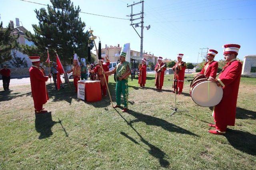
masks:
[[[228,62],[222,69],[218,79],[209,78],[223,89],[223,97],[214,108],[213,117],[216,124],[209,124],[215,130],[209,133],[222,135],[226,133],[227,126],[234,126],[236,119],[236,101],[242,72],[242,63],[236,60],[240,45],[226,44],[224,47],[224,59]]]

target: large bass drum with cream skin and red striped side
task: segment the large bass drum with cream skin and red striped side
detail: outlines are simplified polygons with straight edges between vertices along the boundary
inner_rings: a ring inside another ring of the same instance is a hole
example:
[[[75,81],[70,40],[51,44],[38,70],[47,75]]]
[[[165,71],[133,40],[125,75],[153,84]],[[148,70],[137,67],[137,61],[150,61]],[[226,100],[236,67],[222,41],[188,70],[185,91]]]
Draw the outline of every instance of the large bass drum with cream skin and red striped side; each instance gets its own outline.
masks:
[[[190,84],[190,96],[199,106],[216,106],[222,100],[223,90],[216,83],[207,80],[208,77],[204,74],[198,74]]]

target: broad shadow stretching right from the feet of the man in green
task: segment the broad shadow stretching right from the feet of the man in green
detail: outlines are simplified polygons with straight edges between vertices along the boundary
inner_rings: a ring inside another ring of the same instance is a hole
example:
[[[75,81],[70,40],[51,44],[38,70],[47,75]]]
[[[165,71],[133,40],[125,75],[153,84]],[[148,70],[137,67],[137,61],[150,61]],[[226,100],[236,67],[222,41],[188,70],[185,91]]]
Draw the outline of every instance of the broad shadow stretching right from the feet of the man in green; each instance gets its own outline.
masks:
[[[188,135],[194,135],[197,136],[196,134],[187,131],[186,129],[183,129],[179,126],[176,126],[172,123],[169,123],[168,121],[164,120],[164,119],[160,119],[154,116],[150,116],[150,115],[144,115],[142,113],[138,113],[136,111],[132,111],[132,110],[128,110],[127,112],[128,114],[136,117],[135,120],[130,121],[130,124],[134,123],[134,122],[144,122],[147,125],[154,125],[154,126],[159,126],[162,127],[163,129],[169,131],[169,132],[176,132],[176,133],[182,133],[182,134],[188,134]]]

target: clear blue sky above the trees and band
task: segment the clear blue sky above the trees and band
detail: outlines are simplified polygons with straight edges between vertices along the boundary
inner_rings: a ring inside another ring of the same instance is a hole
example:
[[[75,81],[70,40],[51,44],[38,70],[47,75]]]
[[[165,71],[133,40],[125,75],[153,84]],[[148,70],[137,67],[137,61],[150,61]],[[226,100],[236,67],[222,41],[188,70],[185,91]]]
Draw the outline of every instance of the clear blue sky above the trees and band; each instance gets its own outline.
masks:
[[[51,4],[50,0],[30,0]],[[138,0],[73,0],[82,12],[127,18],[131,9],[127,4]],[[32,25],[38,23],[35,9],[46,6],[20,0],[0,0],[0,15],[4,26],[19,18],[26,29],[33,32]],[[216,60],[223,59],[222,45],[241,45],[238,58],[256,54],[256,0],[145,0],[144,50],[163,58],[176,59],[184,53],[184,61],[196,63],[199,48],[216,49]],[[136,5],[134,13],[140,13]],[[140,38],[130,26],[129,20],[104,18],[80,13],[86,28],[90,26],[105,44],[131,43],[131,49],[140,51]],[[232,20],[226,20],[232,19]],[[237,20],[243,19],[243,20]],[[201,21],[198,21],[201,20]],[[137,20],[139,21],[139,20]],[[137,28],[140,32],[140,28]],[[98,42],[98,39],[97,41]],[[202,58],[199,58],[200,62]]]

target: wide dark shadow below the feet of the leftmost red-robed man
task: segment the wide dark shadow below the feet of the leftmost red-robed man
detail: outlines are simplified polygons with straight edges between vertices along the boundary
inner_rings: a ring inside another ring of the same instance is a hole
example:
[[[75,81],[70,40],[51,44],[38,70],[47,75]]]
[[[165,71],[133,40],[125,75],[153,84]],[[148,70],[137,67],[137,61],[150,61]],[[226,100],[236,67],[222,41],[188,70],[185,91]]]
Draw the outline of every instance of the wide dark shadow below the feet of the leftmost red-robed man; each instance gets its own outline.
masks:
[[[52,121],[52,112],[47,113],[41,113],[41,114],[35,114],[35,129],[38,133],[40,133],[40,136],[38,139],[44,139],[48,138],[52,135],[52,127],[56,123],[59,123],[58,121]]]

